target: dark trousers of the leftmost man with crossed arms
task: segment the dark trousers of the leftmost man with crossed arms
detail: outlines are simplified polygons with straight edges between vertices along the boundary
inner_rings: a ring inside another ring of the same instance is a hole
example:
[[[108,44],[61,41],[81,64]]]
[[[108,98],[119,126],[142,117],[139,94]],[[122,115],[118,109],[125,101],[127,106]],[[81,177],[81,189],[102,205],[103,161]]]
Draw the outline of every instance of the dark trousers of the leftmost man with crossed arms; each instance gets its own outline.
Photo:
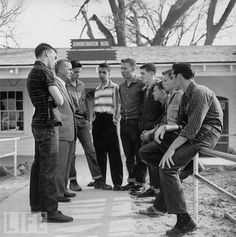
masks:
[[[58,207],[55,169],[59,152],[58,127],[32,127],[35,139],[34,162],[30,173],[30,206],[43,212]]]

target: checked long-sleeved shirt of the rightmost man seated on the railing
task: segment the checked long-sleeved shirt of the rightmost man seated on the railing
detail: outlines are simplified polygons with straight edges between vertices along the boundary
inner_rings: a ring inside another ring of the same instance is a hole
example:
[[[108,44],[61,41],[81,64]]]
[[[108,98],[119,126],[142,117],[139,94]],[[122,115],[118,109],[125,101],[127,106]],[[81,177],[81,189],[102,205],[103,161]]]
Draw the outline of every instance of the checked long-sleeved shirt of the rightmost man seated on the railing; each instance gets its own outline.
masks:
[[[191,81],[181,104],[180,119],[186,117],[186,126],[180,136],[194,139],[201,127],[213,128],[219,133],[223,127],[223,111],[215,93]]]

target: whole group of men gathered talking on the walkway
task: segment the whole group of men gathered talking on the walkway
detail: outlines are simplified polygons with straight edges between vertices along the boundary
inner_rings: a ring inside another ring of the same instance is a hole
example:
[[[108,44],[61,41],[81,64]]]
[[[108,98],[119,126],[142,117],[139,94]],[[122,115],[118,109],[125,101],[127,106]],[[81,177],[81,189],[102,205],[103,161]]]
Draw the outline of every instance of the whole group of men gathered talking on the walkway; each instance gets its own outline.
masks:
[[[82,65],[66,59],[56,62],[56,50],[44,43],[36,47],[35,56],[37,60],[27,80],[35,107],[32,212],[44,213],[49,222],[73,220],[57,208],[58,202],[75,196],[67,190],[69,181],[71,190],[82,190],[75,169],[78,137],[94,180],[89,186],[130,190],[139,197],[155,196],[154,205],[140,210],[140,214],[176,214],[177,223],[166,232],[168,236],[194,231],[197,225],[188,214],[181,182],[191,174],[192,158],[200,148],[216,145],[223,113],[215,94],[195,83],[191,65],[173,64],[160,81],[155,78],[154,64],[140,67],[140,79],[135,76],[135,60],[122,59],[124,82],[118,86],[109,78],[110,66],[100,64],[91,137],[85,87],[79,80]],[[128,171],[124,186],[118,123]],[[106,184],[107,157],[113,187]],[[138,192],[145,186],[147,171],[150,188]]]

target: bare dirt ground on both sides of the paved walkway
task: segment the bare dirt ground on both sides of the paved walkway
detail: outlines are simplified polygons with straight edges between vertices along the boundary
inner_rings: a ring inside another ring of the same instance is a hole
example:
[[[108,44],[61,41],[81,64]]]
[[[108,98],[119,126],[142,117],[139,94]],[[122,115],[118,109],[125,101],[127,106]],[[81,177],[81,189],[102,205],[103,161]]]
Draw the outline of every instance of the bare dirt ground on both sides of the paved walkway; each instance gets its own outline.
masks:
[[[236,169],[222,167],[212,167],[202,172],[202,176],[236,195]],[[23,176],[1,177],[0,178],[0,202],[9,195],[13,195],[19,189],[22,189],[29,183],[29,174]],[[86,192],[86,190],[84,191]],[[190,213],[193,207],[193,182],[189,177],[184,182],[184,192],[188,202]],[[107,193],[109,195],[110,192]],[[113,192],[111,192],[113,194]],[[132,217],[135,221],[135,237],[154,237],[158,236],[157,231],[160,226],[165,229],[171,228],[175,224],[174,215],[165,215],[160,218],[151,218],[135,214],[139,209],[148,207],[151,204],[150,199],[138,200],[130,196]],[[191,236],[207,237],[233,237],[236,236],[236,224],[225,218],[225,213],[230,213],[236,218],[236,205],[228,201],[223,196],[206,185],[199,183],[199,229]],[[160,236],[163,236],[162,234]]]

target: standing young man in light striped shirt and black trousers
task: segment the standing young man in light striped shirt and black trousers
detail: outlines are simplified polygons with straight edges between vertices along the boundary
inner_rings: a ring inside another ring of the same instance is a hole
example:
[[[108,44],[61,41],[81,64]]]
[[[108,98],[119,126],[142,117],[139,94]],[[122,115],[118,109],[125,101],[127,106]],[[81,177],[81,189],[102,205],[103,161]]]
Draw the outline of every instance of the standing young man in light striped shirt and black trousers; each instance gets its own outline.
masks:
[[[106,180],[107,155],[110,163],[113,190],[121,189],[123,166],[121,161],[117,123],[119,120],[118,85],[109,79],[110,66],[98,67],[100,84],[94,94],[93,142],[102,176]]]

